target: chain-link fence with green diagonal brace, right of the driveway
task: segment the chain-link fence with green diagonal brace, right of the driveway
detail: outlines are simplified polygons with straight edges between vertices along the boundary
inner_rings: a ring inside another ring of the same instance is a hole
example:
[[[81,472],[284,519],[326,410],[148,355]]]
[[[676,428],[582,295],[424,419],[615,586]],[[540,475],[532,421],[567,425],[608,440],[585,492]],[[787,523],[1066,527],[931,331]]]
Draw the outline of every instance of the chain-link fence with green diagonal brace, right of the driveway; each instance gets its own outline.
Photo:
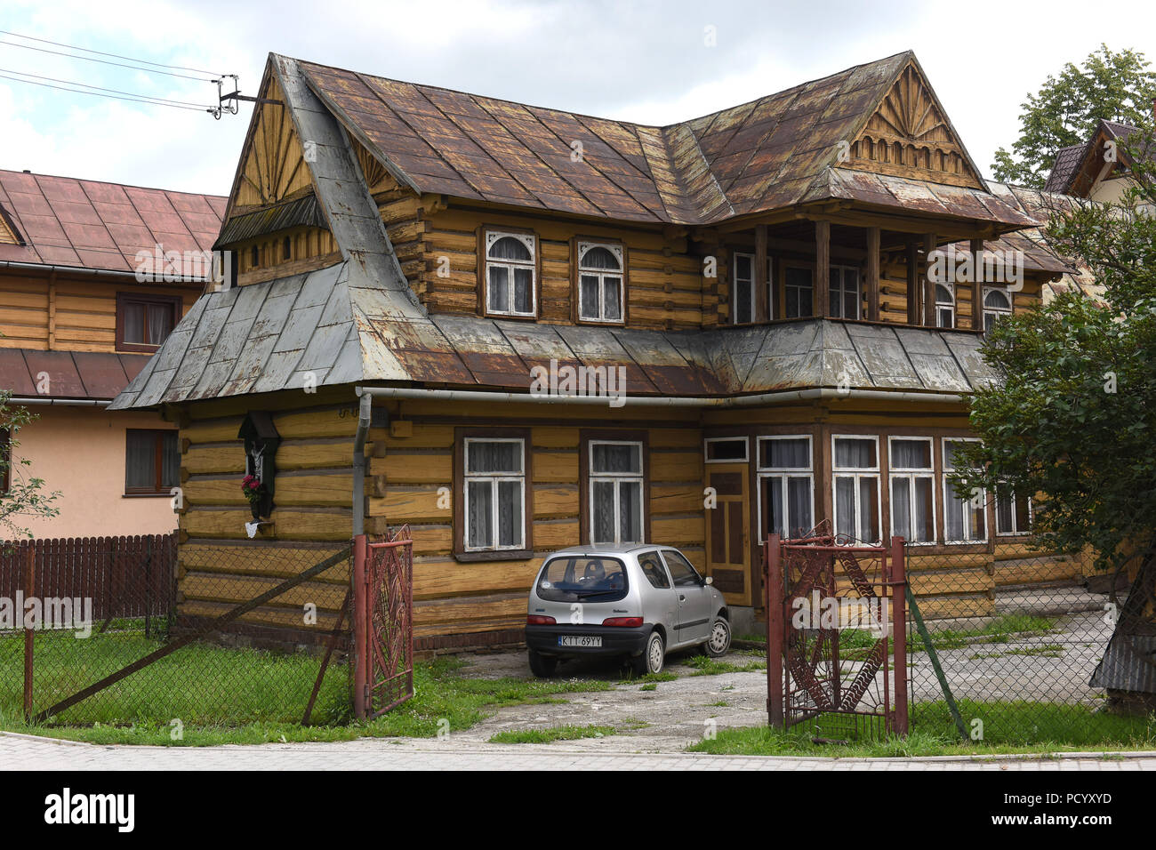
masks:
[[[1007,745],[1151,737],[1151,719],[1107,711],[1092,686],[1126,577],[1080,555],[981,548],[906,547],[913,731]]]

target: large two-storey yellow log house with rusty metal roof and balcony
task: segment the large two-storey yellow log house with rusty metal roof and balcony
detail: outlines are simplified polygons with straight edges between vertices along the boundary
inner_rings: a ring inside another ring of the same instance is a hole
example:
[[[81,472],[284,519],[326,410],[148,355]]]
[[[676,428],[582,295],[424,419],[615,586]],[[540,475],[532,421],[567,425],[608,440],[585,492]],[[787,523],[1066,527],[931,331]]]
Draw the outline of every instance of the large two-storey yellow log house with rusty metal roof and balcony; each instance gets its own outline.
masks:
[[[972,507],[946,473],[993,378],[983,328],[1073,269],[1039,193],[980,177],[913,54],[667,127],[276,54],[260,96],[216,244],[238,286],[113,402],[180,424],[188,557],[303,564],[408,523],[417,646],[439,648],[519,640],[547,553],[642,540],[712,576],[742,630],[761,541],[828,520],[986,583],[926,615],[993,612],[1027,500]],[[933,280],[950,245],[1022,280]],[[621,370],[624,404],[535,386],[578,367]],[[273,493],[254,540],[246,471]],[[180,615],[279,581],[242,561],[183,566]],[[341,594],[311,586],[329,628]],[[245,622],[299,629],[301,608]]]

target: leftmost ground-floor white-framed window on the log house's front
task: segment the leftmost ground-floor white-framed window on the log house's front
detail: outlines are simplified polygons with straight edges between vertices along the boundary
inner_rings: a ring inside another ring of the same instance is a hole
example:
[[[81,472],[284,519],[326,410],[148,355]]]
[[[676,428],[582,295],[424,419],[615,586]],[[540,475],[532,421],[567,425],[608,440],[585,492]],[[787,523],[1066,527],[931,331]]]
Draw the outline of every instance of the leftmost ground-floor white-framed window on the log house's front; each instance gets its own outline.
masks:
[[[525,548],[525,441],[467,437],[464,463],[466,550]]]

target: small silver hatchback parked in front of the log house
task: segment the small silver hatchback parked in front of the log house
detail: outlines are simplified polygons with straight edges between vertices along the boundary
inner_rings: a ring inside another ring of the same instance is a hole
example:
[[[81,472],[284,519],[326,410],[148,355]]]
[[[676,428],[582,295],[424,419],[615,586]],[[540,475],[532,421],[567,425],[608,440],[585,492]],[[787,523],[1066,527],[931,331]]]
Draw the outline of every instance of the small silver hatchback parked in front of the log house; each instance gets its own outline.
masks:
[[[662,670],[670,650],[731,646],[722,594],[669,546],[579,546],[546,559],[529,590],[526,646],[538,677],[560,659],[625,656],[639,675]]]

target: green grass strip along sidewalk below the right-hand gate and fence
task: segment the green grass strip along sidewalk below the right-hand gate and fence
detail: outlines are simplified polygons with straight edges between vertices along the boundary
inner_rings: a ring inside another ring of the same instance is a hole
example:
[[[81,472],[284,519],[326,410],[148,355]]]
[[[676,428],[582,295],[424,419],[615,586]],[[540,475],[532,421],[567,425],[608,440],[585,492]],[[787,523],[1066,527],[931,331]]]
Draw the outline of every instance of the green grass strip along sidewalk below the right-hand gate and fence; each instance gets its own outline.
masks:
[[[698,741],[688,749],[721,755],[888,757],[1156,748],[1156,715],[1125,717],[1079,705],[966,700],[959,703],[959,712],[969,732],[978,729],[973,719],[983,720],[981,740],[962,741],[947,704],[938,702],[916,707],[906,738],[815,744],[812,739],[818,729],[812,720],[787,731],[766,726],[719,730],[714,739]]]

